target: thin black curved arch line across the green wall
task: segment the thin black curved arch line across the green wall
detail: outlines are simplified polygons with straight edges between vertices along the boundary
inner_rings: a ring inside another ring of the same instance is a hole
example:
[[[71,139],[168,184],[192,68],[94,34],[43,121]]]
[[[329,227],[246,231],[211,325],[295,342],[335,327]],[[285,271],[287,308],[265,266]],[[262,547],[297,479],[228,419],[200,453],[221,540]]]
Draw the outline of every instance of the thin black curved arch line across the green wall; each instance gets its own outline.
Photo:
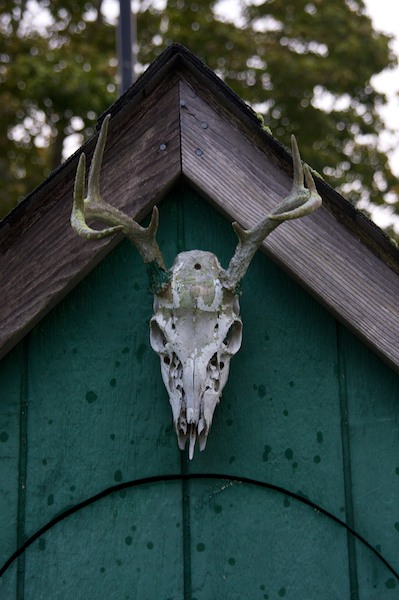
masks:
[[[298,502],[301,502],[302,504],[305,504],[306,506],[309,506],[310,508],[312,508],[313,510],[317,511],[318,513],[324,515],[325,517],[327,517],[328,519],[330,519],[337,525],[340,525],[341,527],[346,529],[351,535],[353,535],[354,538],[356,538],[357,540],[359,540],[359,542],[361,542],[364,546],[366,546],[366,548],[368,548],[378,558],[378,560],[381,561],[386,566],[386,568],[392,573],[392,575],[396,578],[396,580],[399,581],[398,571],[396,571],[392,567],[392,565],[386,560],[386,558],[384,558],[382,556],[382,554],[380,554],[378,552],[378,550],[376,550],[370,544],[370,542],[368,542],[362,535],[360,535],[360,533],[358,533],[357,531],[352,529],[352,527],[347,525],[344,521],[342,521],[341,519],[339,519],[338,517],[336,517],[335,515],[330,513],[328,510],[326,510],[322,506],[315,504],[308,498],[304,498],[303,496],[300,496],[299,494],[295,494],[295,492],[291,492],[290,490],[287,490],[283,487],[274,485],[273,483],[267,483],[265,481],[258,481],[257,479],[251,479],[250,477],[239,477],[238,475],[223,475],[223,474],[218,474],[218,473],[193,473],[193,474],[187,473],[187,474],[179,474],[179,475],[154,475],[152,477],[142,477],[141,479],[135,479],[132,481],[126,481],[124,483],[118,483],[117,485],[113,485],[109,488],[106,488],[102,492],[99,492],[98,494],[95,494],[94,496],[91,496],[90,498],[87,498],[86,500],[79,502],[75,506],[67,508],[65,511],[63,511],[59,515],[55,516],[48,523],[43,525],[43,527],[38,529],[33,535],[31,535],[25,541],[25,543],[20,548],[18,548],[18,550],[16,550],[14,552],[14,554],[12,554],[10,556],[10,558],[8,558],[8,560],[6,560],[6,562],[0,569],[0,577],[2,577],[4,575],[4,573],[12,565],[12,563],[19,556],[21,556],[21,554],[23,554],[25,552],[25,550],[27,550],[29,548],[29,546],[31,546],[33,544],[33,542],[35,542],[38,538],[40,538],[44,533],[49,531],[49,529],[51,529],[52,527],[57,525],[57,523],[64,521],[65,519],[67,519],[74,513],[78,512],[79,510],[82,510],[83,508],[85,508],[86,506],[89,506],[90,504],[94,504],[95,502],[97,502],[98,500],[101,500],[102,498],[105,498],[106,496],[114,494],[115,492],[120,492],[121,490],[126,490],[126,489],[139,487],[141,485],[148,485],[148,484],[152,484],[152,483],[163,483],[165,481],[195,481],[195,480],[204,480],[204,479],[211,479],[211,480],[216,479],[219,481],[223,480],[223,481],[231,481],[234,483],[244,483],[246,485],[256,485],[258,487],[272,490],[279,494],[283,494],[284,496],[288,496],[294,500],[297,500]]]

